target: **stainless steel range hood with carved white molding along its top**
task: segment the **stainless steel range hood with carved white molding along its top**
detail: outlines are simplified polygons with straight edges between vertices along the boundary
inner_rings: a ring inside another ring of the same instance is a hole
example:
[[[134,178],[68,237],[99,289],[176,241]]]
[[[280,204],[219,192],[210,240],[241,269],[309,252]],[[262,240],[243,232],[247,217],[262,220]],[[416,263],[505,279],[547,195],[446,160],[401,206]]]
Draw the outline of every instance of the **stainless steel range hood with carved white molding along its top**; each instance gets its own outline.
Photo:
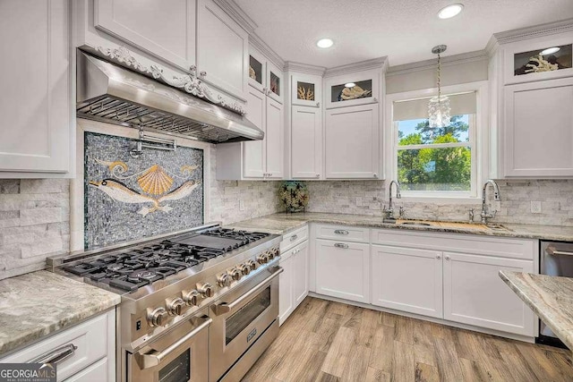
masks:
[[[106,60],[77,55],[78,117],[210,143],[264,138],[241,104],[196,76],[168,78],[158,65],[141,64],[124,47],[94,50]]]

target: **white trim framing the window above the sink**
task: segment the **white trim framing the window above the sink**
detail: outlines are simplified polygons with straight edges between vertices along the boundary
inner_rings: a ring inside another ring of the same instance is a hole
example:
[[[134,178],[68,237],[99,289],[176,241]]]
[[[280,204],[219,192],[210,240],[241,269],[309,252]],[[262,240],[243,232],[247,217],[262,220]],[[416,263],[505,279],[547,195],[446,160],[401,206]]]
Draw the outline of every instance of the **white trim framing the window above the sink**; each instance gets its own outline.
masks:
[[[402,191],[402,198],[407,201],[423,201],[437,203],[475,203],[482,196],[479,194],[481,184],[487,179],[487,169],[489,168],[489,141],[490,128],[488,118],[488,81],[475,81],[458,85],[444,86],[441,88],[442,94],[455,94],[475,91],[475,129],[470,132],[474,135],[475,155],[472,153],[472,191],[468,192],[426,192],[426,191]],[[393,117],[393,104],[397,101],[404,101],[415,98],[430,98],[438,94],[437,88],[420,89],[393,93],[386,95],[386,113],[384,129],[384,151],[387,164],[387,180],[398,178],[398,149],[395,144],[398,132],[395,128]]]

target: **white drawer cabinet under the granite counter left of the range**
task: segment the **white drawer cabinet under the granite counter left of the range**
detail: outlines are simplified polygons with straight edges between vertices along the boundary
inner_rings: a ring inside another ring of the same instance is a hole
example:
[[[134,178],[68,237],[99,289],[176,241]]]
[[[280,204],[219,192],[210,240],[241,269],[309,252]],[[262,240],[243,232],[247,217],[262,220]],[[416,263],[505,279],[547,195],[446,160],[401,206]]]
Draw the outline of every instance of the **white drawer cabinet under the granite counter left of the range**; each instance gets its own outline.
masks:
[[[58,382],[115,381],[115,310],[31,344],[0,359],[0,363],[29,362],[60,351],[71,355],[56,361]]]

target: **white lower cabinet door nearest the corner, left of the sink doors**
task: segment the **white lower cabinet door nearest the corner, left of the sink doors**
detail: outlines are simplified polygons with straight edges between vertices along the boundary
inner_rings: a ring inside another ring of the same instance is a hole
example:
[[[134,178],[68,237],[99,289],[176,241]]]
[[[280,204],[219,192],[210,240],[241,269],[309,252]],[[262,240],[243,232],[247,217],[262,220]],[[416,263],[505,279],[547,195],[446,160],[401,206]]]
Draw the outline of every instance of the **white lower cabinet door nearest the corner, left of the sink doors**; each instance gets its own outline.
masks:
[[[370,302],[370,245],[316,239],[316,293]]]

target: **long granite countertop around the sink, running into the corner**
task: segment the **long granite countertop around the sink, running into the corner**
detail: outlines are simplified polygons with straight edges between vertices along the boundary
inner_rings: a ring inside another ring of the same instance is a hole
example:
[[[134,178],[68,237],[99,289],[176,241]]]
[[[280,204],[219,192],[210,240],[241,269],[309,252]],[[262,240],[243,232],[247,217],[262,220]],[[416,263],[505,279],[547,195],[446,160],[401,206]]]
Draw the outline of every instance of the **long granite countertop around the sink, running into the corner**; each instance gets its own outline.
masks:
[[[509,228],[509,231],[477,230],[469,227],[464,227],[463,225],[458,225],[457,227],[394,225],[391,223],[383,223],[380,216],[329,214],[320,212],[295,214],[278,213],[255,217],[250,220],[244,220],[242,222],[237,222],[227,226],[250,231],[285,234],[309,222],[336,225],[357,225],[374,228],[392,228],[423,232],[470,233],[486,236],[520,237],[527,239],[558,240],[565,242],[573,241],[573,227],[557,225],[515,225],[501,223],[505,227]]]

